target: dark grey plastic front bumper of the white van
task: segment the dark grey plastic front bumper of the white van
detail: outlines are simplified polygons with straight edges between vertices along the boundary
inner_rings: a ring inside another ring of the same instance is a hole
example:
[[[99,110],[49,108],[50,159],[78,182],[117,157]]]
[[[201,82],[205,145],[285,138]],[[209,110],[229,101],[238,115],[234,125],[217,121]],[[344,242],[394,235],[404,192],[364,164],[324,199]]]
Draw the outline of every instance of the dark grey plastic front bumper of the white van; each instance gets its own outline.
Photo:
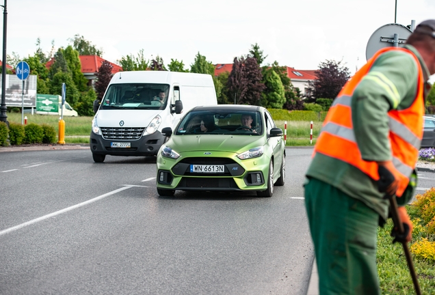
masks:
[[[156,131],[152,135],[140,137],[137,140],[110,140],[103,139],[101,135],[90,133],[90,150],[94,154],[104,154],[111,156],[155,156],[163,144],[165,137]],[[112,142],[129,142],[130,148],[111,148]]]

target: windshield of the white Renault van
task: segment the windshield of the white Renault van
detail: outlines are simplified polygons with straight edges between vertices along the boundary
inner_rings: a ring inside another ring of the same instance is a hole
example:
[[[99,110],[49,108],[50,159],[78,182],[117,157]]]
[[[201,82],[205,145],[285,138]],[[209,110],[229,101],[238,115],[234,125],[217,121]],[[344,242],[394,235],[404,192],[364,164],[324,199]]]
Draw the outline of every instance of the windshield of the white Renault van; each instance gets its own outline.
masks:
[[[168,94],[168,84],[111,84],[100,109],[165,109]]]

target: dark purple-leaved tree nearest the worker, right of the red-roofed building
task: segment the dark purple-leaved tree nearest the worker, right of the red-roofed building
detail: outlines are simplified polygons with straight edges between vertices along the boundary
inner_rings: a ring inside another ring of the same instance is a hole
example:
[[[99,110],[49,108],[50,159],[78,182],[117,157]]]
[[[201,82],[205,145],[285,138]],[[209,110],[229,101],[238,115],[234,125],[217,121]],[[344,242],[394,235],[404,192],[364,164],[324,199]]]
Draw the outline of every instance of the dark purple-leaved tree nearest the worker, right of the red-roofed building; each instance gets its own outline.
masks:
[[[336,98],[349,80],[350,71],[349,68],[341,66],[341,61],[327,59],[319,64],[316,76],[316,80],[308,82],[314,102],[317,98]]]

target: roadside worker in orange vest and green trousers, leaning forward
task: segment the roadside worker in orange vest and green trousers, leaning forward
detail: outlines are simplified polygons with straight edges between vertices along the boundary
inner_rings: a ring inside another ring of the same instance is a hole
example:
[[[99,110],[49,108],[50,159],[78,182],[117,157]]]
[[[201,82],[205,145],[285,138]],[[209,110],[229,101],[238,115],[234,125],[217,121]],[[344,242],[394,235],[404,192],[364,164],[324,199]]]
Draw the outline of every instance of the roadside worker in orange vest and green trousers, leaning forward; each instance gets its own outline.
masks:
[[[380,294],[376,268],[379,221],[388,200],[378,168],[394,176],[401,238],[411,240],[404,205],[417,182],[429,76],[435,74],[435,20],[420,23],[404,48],[383,48],[347,81],[321,129],[306,172],[305,204],[320,294]]]

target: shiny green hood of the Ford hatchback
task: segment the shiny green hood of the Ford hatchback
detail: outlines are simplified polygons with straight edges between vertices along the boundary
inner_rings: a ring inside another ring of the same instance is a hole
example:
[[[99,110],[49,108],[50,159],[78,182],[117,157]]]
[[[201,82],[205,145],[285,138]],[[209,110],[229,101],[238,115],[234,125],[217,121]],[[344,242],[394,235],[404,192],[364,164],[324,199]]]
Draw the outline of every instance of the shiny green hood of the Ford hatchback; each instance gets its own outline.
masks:
[[[166,144],[176,152],[245,152],[265,145],[265,138],[256,135],[173,135]]]

